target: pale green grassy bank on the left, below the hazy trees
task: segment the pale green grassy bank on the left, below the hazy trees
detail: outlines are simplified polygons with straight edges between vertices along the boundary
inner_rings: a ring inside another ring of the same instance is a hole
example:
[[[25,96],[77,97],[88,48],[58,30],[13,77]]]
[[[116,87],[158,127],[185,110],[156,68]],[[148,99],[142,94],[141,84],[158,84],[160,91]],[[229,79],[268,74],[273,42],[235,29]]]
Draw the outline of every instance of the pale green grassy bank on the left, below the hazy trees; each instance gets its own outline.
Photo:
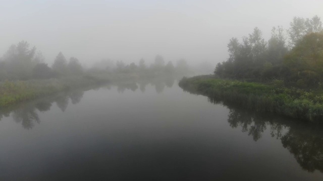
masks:
[[[4,81],[0,83],[0,107],[51,95],[70,88],[107,82],[105,78],[84,75],[53,79]]]

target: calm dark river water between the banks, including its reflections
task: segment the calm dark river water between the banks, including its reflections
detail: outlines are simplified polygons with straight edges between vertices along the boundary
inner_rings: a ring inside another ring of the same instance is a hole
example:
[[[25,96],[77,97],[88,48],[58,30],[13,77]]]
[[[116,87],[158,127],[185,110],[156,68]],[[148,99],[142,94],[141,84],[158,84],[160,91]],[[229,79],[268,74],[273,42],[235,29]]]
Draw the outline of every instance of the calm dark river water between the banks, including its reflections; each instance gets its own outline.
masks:
[[[212,104],[173,81],[0,111],[0,180],[322,180],[323,129]]]

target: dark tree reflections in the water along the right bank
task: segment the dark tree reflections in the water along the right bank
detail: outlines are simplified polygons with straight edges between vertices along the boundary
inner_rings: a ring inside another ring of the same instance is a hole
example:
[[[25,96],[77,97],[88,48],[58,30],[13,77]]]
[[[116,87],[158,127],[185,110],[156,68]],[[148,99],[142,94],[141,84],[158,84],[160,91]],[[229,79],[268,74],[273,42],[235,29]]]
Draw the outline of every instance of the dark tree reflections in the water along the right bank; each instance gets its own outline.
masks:
[[[271,137],[280,139],[283,147],[289,150],[304,170],[323,172],[321,125],[250,112],[212,96],[208,96],[208,101],[222,104],[230,110],[227,121],[232,128],[240,128],[254,141],[258,141],[264,132],[269,130]]]

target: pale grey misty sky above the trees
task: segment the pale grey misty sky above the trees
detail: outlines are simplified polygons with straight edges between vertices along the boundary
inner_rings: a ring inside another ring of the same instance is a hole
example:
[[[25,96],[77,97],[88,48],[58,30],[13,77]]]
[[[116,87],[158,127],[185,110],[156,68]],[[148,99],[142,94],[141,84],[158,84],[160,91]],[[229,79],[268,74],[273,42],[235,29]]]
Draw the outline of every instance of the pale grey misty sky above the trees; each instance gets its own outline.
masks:
[[[1,1],[1,0],[0,0]],[[221,62],[231,37],[294,16],[323,18],[323,1],[1,1],[0,54],[26,40],[50,63],[58,52],[84,64],[102,58],[138,62],[156,54],[166,61]]]

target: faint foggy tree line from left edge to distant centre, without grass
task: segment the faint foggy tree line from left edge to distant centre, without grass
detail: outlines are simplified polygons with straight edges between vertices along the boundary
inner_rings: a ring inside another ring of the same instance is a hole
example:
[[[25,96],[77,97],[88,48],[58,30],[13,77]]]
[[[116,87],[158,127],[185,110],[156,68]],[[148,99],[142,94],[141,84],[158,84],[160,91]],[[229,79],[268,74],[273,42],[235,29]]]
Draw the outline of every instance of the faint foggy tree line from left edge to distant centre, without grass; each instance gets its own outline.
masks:
[[[141,59],[138,65],[134,62],[125,64],[122,60],[116,63],[102,60],[94,63],[92,68],[85,69],[77,58],[71,57],[67,60],[62,52],[59,52],[53,64],[48,66],[41,52],[36,51],[36,47],[30,47],[28,42],[21,41],[10,46],[8,51],[0,58],[0,81],[81,76],[84,73],[122,73],[135,74],[139,77],[166,74],[184,75],[189,69],[186,60],[178,60],[174,66],[172,61],[165,64],[165,60],[161,55],[156,55],[154,62],[150,66],[146,65],[144,59]]]

